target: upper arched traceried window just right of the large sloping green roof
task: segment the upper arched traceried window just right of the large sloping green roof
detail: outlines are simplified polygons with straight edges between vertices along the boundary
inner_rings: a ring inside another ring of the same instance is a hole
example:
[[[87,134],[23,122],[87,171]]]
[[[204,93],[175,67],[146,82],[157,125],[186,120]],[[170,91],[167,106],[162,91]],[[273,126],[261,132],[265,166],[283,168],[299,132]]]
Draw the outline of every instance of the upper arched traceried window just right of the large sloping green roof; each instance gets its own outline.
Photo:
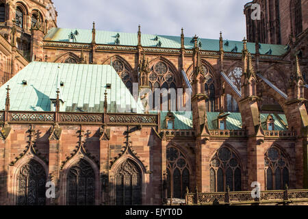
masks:
[[[166,90],[173,89],[173,94],[176,95],[177,85],[175,80],[175,74],[172,73],[172,70],[168,67],[164,62],[157,62],[151,68],[151,73],[149,73],[149,86],[153,91],[153,108],[162,109],[162,106],[155,106],[155,88],[166,88]],[[168,94],[168,103],[162,103],[161,105],[170,105],[170,108],[175,109],[177,106],[177,96],[172,98],[170,94]],[[170,103],[170,104],[169,104]],[[172,111],[175,111],[171,109]],[[162,109],[164,110],[164,109]],[[169,109],[168,109],[169,110]]]

